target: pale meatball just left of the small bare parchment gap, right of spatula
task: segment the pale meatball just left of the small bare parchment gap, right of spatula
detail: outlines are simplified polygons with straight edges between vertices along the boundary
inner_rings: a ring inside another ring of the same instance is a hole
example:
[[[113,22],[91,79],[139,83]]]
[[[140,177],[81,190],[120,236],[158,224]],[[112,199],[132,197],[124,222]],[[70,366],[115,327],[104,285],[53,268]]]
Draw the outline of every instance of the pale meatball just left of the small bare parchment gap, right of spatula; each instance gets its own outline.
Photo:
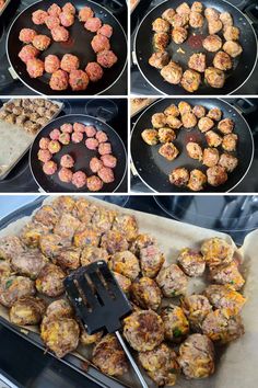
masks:
[[[165,297],[172,298],[185,295],[187,290],[187,276],[177,264],[163,267],[156,276],[156,283]]]

